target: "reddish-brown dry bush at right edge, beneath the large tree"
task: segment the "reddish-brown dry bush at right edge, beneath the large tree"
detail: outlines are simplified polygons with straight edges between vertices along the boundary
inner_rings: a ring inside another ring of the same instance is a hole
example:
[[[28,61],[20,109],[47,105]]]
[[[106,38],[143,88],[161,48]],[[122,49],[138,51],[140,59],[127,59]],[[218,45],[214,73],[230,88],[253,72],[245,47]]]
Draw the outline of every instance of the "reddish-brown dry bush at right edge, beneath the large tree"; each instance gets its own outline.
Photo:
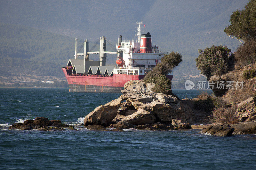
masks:
[[[256,40],[246,41],[235,53],[236,69],[256,63]]]

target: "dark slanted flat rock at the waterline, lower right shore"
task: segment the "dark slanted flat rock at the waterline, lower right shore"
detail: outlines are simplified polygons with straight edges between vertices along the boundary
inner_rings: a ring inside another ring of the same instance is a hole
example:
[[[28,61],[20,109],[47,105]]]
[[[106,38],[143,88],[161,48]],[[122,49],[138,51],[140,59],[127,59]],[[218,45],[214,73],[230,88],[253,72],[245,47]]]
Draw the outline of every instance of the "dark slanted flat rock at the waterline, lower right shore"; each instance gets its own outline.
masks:
[[[230,137],[233,131],[234,128],[230,127],[227,124],[216,124],[209,126],[208,128],[201,130],[200,132],[220,137]]]

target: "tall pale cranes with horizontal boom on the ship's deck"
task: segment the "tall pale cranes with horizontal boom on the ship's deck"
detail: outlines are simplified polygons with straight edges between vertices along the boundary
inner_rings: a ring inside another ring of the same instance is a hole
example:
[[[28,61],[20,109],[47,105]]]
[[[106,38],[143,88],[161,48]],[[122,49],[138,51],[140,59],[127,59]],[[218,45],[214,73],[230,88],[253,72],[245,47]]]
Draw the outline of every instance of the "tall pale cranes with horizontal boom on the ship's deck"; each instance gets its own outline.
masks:
[[[75,40],[76,40],[76,44],[77,44],[78,39],[76,38]],[[98,44],[99,41],[100,41],[100,50],[91,52],[91,50]],[[99,41],[96,42],[96,44],[92,47],[92,49],[89,52],[88,51],[88,41],[87,41],[87,39],[84,40],[84,53],[77,53],[77,50],[75,49],[75,59],[77,59],[77,56],[83,55],[84,60],[89,60],[89,54],[99,54],[100,55],[100,66],[105,66],[107,54],[117,54],[117,52],[106,51],[106,49],[107,49],[106,48],[106,41],[107,41],[106,37],[103,37],[103,36],[100,37]],[[110,45],[111,45],[111,43],[110,43]],[[76,48],[76,46],[75,46],[75,48]]]

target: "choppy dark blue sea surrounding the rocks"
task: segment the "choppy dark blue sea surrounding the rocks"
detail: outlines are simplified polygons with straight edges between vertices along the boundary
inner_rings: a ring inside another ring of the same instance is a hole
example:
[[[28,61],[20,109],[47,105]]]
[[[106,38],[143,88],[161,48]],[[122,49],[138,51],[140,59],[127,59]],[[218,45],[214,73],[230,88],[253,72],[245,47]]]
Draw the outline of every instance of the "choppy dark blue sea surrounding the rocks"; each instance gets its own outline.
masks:
[[[173,90],[193,98],[196,90]],[[215,137],[189,131],[88,131],[80,126],[116,93],[68,89],[0,88],[0,169],[255,169],[256,135]],[[8,129],[47,117],[77,131]]]

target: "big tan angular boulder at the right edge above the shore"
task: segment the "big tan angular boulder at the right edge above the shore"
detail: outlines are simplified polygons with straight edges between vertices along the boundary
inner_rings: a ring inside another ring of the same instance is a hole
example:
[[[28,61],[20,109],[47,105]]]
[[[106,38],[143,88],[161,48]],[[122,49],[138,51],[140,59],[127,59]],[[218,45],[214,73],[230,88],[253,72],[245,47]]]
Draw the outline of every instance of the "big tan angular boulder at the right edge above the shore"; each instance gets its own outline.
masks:
[[[256,97],[251,97],[237,105],[235,116],[240,122],[256,120]]]

